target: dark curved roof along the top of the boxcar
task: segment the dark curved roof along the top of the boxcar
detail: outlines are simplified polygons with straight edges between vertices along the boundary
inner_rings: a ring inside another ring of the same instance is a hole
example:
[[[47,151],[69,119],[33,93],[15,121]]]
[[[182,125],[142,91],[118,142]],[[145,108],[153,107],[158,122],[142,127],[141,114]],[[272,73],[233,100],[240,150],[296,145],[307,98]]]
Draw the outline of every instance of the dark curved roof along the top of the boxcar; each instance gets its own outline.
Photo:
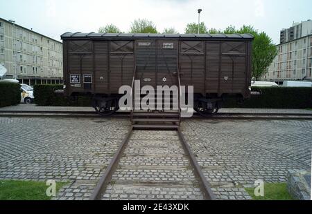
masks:
[[[82,32],[65,32],[61,35],[62,39],[69,38],[216,38],[216,39],[253,39],[254,37],[250,34],[232,34],[225,35],[221,34],[157,34],[157,33],[82,33]]]

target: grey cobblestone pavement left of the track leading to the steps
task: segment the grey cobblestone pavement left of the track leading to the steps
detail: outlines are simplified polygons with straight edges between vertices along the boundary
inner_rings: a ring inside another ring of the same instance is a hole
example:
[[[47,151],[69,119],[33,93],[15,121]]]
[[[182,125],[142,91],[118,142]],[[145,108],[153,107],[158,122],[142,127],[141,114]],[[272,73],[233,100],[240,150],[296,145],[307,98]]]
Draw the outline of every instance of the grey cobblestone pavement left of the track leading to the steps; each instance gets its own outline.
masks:
[[[57,199],[88,200],[130,122],[0,118],[0,179],[69,181]]]

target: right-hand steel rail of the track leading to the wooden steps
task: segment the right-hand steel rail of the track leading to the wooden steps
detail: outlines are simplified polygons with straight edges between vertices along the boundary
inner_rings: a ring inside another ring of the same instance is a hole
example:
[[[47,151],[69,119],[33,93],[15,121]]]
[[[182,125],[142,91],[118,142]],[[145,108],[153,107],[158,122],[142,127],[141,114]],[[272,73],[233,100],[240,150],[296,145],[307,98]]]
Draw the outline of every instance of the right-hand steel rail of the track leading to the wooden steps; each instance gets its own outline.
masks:
[[[187,144],[187,141],[185,140],[184,135],[181,132],[180,128],[177,128],[177,134],[180,138],[180,141],[182,142],[182,146],[184,148],[184,151],[189,156],[191,164],[194,168],[194,173],[195,173],[196,177],[198,177],[198,180],[200,182],[200,187],[201,187],[203,193],[205,193],[206,200],[216,200],[216,197],[215,197],[214,193],[211,191],[211,187],[210,187],[209,183],[207,182],[205,175],[202,173],[200,166],[198,165],[198,162],[196,161],[195,156],[191,152],[191,148],[189,147],[189,144]]]

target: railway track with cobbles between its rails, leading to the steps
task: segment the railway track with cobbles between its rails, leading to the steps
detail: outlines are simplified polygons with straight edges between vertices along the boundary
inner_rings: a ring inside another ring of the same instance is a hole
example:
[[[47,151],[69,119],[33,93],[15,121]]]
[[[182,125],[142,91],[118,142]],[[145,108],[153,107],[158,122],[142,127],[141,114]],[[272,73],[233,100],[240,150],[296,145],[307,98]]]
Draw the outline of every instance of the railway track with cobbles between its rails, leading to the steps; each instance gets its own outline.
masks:
[[[129,130],[90,200],[215,200],[180,128]]]

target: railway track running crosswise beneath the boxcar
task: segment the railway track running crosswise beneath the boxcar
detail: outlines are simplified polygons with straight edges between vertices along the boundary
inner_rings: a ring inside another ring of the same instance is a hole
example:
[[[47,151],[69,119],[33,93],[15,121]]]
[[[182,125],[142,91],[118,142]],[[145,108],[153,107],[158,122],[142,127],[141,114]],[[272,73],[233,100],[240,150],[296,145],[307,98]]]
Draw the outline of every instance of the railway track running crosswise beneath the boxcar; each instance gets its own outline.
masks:
[[[91,111],[34,111],[34,110],[0,110],[0,117],[101,117]],[[130,117],[130,113],[116,113],[110,117]],[[194,119],[312,119],[307,113],[218,113],[213,117],[201,117],[198,113]]]

